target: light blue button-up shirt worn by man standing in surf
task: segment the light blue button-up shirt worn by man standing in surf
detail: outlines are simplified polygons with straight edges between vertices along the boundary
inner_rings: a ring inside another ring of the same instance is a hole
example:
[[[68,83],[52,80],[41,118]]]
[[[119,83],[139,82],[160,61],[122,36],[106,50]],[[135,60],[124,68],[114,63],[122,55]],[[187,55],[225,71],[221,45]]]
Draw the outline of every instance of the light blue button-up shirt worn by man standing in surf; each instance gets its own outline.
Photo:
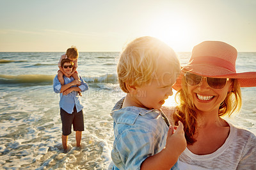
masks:
[[[68,84],[72,81],[74,81],[73,77],[66,77],[63,75],[64,84]],[[78,86],[78,88],[81,89],[81,92],[86,91],[89,89],[88,84],[80,77],[81,85]],[[71,86],[76,87],[76,86]],[[53,90],[55,93],[60,93],[61,84],[58,80],[58,75],[56,75],[53,79]],[[83,109],[83,105],[81,102],[81,98],[78,95],[77,91],[72,91],[71,93],[68,93],[68,95],[63,95],[63,93],[60,93],[60,108],[62,108],[64,111],[68,112],[69,114],[72,114],[74,106],[76,105],[77,112],[81,111]]]

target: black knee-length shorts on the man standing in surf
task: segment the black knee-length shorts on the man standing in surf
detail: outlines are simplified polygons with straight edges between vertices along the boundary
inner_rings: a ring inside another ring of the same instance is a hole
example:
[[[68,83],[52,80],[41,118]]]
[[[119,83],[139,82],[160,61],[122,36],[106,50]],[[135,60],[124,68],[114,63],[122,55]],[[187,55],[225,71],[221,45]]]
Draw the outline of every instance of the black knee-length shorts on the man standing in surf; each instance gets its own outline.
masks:
[[[74,131],[84,131],[84,116],[83,110],[77,112],[76,105],[74,107],[74,112],[72,114],[67,113],[60,108],[60,116],[62,122],[62,134],[71,134],[71,126],[73,124]]]

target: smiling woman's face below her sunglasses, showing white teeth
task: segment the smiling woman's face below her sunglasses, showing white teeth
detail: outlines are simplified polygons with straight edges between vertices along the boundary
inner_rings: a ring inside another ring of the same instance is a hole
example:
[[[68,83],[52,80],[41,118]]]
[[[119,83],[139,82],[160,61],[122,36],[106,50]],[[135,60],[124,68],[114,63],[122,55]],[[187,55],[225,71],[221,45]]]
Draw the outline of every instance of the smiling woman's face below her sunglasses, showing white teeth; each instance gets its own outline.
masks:
[[[187,86],[188,93],[198,111],[202,112],[218,112],[221,103],[227,97],[227,93],[232,89],[232,83],[227,81],[226,85],[221,89],[211,88],[204,77],[196,86]]]

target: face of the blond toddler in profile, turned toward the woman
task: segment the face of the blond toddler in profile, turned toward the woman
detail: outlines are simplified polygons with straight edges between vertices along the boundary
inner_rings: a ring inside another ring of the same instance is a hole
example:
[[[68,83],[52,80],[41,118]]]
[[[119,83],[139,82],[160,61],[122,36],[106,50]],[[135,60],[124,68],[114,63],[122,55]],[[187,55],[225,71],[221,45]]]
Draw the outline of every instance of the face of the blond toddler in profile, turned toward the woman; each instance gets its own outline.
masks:
[[[135,97],[139,107],[160,109],[164,100],[173,95],[172,85],[176,81],[176,75],[170,72],[170,66],[163,65],[152,77],[152,82],[136,87]]]

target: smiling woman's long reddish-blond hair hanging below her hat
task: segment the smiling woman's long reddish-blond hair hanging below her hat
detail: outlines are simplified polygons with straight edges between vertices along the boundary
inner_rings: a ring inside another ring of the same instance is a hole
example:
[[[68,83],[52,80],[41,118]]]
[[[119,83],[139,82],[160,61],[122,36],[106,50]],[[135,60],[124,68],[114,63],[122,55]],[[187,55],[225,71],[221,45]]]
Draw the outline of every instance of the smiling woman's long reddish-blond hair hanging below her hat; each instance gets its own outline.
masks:
[[[233,113],[239,112],[242,107],[241,89],[237,79],[230,79],[232,81],[233,90],[227,93],[227,97],[221,103],[219,108],[219,116],[230,116]],[[179,105],[177,111],[173,114],[175,125],[181,121],[184,125],[184,132],[188,144],[195,143],[194,137],[196,130],[196,120],[198,115],[196,113],[196,106],[193,104],[191,95],[188,93],[188,85],[184,76],[182,78],[182,88],[177,91],[175,100]]]

